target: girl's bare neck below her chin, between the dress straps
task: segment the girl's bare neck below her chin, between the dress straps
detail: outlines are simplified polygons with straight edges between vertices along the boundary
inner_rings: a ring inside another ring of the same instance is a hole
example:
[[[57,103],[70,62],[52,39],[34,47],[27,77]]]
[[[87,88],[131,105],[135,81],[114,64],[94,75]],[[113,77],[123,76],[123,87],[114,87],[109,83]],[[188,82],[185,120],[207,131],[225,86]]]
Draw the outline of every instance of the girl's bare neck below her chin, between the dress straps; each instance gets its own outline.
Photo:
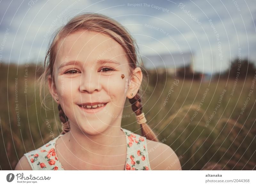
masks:
[[[67,135],[68,149],[81,159],[123,154],[119,150],[126,146],[126,140],[120,125],[109,126],[103,133],[90,135],[70,123]]]

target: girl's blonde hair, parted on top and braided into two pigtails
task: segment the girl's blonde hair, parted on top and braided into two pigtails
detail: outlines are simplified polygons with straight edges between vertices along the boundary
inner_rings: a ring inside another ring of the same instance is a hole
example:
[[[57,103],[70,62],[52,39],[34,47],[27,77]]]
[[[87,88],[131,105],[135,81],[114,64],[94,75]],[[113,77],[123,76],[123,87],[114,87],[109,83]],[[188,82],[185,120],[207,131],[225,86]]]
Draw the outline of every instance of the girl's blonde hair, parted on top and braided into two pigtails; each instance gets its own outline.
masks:
[[[44,86],[44,82],[47,77],[50,75],[52,77],[52,81],[54,82],[53,77],[53,67],[57,56],[57,46],[59,41],[62,38],[65,38],[67,35],[75,33],[77,31],[95,31],[113,38],[117,43],[119,43],[125,51],[125,56],[129,61],[130,66],[130,74],[133,74],[133,69],[136,68],[138,63],[136,48],[134,46],[134,39],[129,34],[129,32],[120,25],[114,19],[111,19],[105,15],[97,14],[97,13],[83,13],[75,16],[68,23],[62,27],[60,27],[56,34],[52,38],[52,42],[50,43],[45,59],[44,59],[44,73],[40,76],[40,100],[42,105],[46,107],[44,104],[44,99],[42,99],[42,88]],[[132,104],[132,111],[135,112],[136,115],[140,115],[142,113],[142,105],[141,105],[141,96],[140,90],[137,94],[129,99]],[[61,134],[65,134],[70,130],[68,117],[65,115],[62,110],[60,104],[58,105],[59,116],[62,124],[62,132]],[[147,125],[147,123],[140,124],[142,136],[145,136],[149,140],[159,141],[151,130],[151,128]]]

